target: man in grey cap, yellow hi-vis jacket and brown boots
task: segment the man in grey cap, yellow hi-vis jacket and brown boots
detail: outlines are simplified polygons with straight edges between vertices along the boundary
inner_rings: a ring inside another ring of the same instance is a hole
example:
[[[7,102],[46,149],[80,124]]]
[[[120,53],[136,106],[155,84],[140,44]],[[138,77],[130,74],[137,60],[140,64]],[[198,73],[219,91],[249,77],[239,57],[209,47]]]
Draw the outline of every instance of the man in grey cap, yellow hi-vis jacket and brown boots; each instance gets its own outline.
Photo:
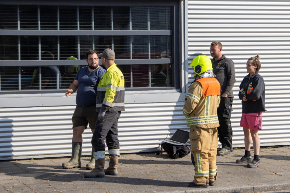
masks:
[[[118,139],[118,120],[121,111],[125,111],[125,81],[123,73],[115,64],[115,52],[105,49],[102,54],[102,65],[107,71],[102,76],[97,88],[96,111],[99,112],[92,138],[92,145],[95,148],[95,169],[84,173],[84,177],[95,178],[105,175],[118,175],[117,166],[120,157]],[[105,167],[105,143],[108,146],[110,163]]]

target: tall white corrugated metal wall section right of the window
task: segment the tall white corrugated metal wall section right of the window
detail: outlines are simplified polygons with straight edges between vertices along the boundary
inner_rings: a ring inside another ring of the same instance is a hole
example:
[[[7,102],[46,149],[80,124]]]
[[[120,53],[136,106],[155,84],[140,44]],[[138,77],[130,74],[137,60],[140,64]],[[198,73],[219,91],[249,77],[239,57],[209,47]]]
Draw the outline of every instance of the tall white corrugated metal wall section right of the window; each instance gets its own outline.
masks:
[[[239,85],[247,60],[260,55],[266,88],[261,145],[290,142],[290,1],[188,1],[189,63],[199,52],[210,56],[210,43],[220,41],[222,54],[235,63],[235,99],[231,116],[233,145],[244,146]],[[189,83],[193,70],[189,67]]]

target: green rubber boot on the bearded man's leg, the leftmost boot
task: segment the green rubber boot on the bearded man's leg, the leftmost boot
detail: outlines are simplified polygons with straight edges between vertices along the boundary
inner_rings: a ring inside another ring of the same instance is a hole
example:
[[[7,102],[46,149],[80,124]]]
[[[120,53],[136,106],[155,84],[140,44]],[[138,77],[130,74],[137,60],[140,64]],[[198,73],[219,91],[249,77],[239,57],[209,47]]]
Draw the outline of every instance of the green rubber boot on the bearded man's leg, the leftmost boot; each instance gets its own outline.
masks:
[[[73,142],[72,157],[70,161],[62,163],[62,167],[66,169],[81,168],[81,147],[82,142]]]

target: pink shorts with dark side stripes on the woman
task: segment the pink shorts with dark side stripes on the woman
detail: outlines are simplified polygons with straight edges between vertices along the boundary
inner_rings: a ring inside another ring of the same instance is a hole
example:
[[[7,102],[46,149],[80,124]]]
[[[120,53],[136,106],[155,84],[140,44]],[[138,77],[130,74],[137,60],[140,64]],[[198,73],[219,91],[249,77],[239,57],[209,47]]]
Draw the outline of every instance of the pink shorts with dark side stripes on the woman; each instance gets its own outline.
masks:
[[[242,113],[240,126],[253,130],[262,130],[262,113]]]

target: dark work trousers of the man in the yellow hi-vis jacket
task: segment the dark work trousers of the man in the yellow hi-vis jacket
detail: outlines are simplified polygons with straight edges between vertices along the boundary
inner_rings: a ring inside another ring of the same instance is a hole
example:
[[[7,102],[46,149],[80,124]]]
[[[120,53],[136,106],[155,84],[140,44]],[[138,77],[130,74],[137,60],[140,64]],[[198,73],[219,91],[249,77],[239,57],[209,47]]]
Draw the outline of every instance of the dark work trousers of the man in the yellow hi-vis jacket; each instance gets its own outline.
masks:
[[[92,146],[95,148],[95,152],[106,150],[105,139],[108,149],[119,149],[118,120],[120,115],[121,111],[109,111],[105,112],[103,122],[97,120],[92,137]]]

